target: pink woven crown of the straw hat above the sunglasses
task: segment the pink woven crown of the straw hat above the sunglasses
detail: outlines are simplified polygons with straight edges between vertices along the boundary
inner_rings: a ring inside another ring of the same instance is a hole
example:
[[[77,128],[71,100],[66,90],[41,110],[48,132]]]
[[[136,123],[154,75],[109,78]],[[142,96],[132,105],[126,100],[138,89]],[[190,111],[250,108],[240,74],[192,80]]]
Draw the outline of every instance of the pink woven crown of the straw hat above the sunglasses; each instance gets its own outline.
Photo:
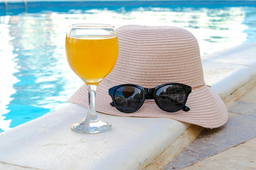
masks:
[[[204,84],[198,41],[186,29],[125,25],[117,34],[119,55],[108,82],[146,88],[169,82]]]

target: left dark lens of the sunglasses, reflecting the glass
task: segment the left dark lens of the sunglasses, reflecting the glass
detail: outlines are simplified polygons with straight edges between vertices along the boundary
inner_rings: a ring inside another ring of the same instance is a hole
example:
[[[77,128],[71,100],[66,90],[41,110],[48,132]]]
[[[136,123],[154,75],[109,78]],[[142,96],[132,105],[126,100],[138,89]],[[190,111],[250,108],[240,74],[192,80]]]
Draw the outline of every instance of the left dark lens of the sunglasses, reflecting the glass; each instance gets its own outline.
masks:
[[[114,94],[117,107],[123,112],[134,112],[143,103],[143,92],[135,86],[122,86]]]

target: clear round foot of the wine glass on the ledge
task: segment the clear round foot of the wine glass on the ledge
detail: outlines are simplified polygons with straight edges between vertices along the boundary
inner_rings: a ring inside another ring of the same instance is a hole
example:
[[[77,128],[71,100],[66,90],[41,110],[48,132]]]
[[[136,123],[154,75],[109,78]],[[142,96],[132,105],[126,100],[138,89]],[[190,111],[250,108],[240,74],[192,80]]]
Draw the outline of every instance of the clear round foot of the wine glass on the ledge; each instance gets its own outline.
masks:
[[[112,129],[112,125],[99,119],[96,121],[84,119],[77,124],[73,124],[71,129],[81,133],[104,133],[110,131]]]

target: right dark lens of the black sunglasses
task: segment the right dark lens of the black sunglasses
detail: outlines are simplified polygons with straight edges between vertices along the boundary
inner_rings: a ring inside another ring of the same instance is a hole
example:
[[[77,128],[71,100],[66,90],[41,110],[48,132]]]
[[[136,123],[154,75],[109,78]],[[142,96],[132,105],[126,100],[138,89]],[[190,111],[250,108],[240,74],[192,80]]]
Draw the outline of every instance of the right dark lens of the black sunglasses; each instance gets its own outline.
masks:
[[[181,109],[186,99],[186,91],[180,85],[166,85],[156,92],[157,103],[165,111]]]

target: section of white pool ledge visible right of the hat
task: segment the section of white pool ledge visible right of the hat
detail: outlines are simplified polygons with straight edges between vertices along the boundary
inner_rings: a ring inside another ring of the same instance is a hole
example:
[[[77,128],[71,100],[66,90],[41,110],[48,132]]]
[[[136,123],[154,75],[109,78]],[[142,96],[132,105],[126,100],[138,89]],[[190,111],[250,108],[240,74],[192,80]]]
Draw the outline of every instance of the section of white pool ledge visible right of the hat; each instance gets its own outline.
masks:
[[[256,42],[204,55],[202,65],[206,84],[229,106],[256,81]]]

